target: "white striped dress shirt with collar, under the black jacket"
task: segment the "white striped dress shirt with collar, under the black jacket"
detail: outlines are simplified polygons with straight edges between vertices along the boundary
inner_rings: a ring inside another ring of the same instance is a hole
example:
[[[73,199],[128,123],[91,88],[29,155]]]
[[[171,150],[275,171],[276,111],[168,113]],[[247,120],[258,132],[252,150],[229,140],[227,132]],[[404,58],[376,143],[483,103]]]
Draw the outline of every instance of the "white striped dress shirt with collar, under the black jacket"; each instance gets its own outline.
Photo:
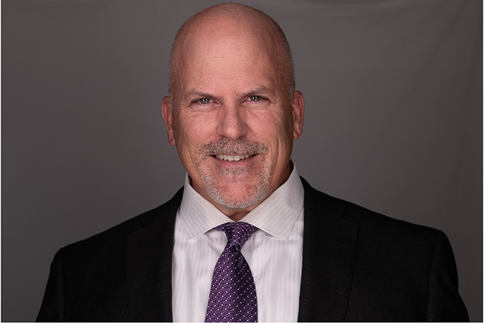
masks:
[[[294,166],[288,180],[241,221],[255,231],[241,250],[253,273],[259,322],[296,322],[302,270],[304,188]],[[217,225],[232,222],[185,178],[175,221],[173,320],[204,322],[213,269],[227,244]]]

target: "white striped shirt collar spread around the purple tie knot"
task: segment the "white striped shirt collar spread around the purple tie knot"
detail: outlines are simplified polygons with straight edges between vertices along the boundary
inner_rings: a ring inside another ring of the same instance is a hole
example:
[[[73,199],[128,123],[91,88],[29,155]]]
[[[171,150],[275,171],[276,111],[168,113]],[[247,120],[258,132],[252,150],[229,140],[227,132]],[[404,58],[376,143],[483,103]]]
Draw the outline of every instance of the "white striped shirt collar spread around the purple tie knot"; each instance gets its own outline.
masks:
[[[242,221],[255,225],[274,237],[288,239],[303,206],[304,188],[294,164],[288,180],[250,211]],[[187,241],[203,235],[217,225],[233,222],[191,187],[188,173],[185,176],[179,216]]]

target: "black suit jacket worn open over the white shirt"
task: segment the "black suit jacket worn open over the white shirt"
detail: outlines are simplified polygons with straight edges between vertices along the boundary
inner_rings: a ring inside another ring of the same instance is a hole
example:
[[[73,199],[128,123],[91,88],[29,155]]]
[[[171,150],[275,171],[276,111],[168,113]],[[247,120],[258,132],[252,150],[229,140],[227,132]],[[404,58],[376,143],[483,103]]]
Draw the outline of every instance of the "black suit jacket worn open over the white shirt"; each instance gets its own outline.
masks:
[[[466,321],[443,232],[304,185],[299,321]],[[60,249],[38,321],[172,321],[175,215],[166,204]]]

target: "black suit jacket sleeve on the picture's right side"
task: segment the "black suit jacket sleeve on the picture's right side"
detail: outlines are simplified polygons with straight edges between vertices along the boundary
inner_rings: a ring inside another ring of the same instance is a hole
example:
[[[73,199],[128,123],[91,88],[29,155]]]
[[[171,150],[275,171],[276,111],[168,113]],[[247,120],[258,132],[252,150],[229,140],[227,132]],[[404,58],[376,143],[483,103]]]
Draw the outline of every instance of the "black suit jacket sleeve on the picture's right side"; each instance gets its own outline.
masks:
[[[466,305],[459,295],[457,267],[448,238],[438,231],[427,286],[426,321],[469,322]]]

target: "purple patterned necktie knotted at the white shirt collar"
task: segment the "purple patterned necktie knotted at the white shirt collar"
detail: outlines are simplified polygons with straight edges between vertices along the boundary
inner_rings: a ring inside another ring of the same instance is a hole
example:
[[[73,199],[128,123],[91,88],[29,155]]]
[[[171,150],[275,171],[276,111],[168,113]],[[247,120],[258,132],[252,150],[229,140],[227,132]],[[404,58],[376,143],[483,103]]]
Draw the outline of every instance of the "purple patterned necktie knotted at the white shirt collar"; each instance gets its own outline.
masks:
[[[205,322],[257,322],[254,278],[241,253],[257,228],[246,222],[229,222],[215,229],[225,232],[227,246],[213,270]]]

